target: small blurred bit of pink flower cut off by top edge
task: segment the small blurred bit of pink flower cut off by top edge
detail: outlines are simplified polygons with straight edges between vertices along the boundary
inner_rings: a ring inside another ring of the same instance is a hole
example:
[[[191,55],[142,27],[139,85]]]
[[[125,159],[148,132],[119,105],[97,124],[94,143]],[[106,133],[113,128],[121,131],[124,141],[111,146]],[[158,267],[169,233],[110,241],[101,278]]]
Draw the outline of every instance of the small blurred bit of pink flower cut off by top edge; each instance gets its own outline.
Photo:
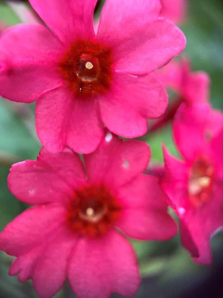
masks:
[[[160,0],[162,5],[161,16],[181,24],[185,20],[186,0]]]

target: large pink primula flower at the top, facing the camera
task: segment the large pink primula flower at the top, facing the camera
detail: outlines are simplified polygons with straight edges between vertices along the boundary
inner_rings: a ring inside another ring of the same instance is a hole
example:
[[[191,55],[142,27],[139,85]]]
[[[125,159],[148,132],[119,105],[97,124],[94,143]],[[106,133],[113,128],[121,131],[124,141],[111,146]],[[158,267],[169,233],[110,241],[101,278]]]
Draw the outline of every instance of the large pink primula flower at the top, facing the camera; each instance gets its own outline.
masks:
[[[36,128],[48,151],[95,150],[104,125],[133,138],[162,115],[167,94],[150,74],[178,55],[183,33],[160,18],[159,0],[107,0],[97,36],[96,0],[30,0],[52,30],[18,25],[0,40],[0,93],[36,104]]]

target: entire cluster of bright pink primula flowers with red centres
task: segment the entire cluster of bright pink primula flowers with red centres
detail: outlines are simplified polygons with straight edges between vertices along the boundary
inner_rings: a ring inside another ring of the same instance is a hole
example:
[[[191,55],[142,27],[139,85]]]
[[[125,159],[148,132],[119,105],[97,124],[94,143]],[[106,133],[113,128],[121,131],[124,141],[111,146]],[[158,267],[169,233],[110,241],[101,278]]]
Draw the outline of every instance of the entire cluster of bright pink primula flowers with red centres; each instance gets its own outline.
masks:
[[[36,161],[12,165],[10,191],[34,206],[1,232],[0,249],[16,257],[9,274],[32,279],[41,298],[66,279],[80,298],[134,295],[140,275],[127,237],[172,238],[168,206],[183,246],[211,262],[209,240],[223,225],[223,115],[208,104],[206,74],[186,59],[169,62],[186,41],[164,17],[182,20],[185,2],[167,2],[106,0],[94,30],[96,0],[30,0],[45,25],[1,35],[0,94],[37,101],[43,147]],[[166,113],[164,87],[178,93]],[[164,147],[161,177],[145,171],[145,142],[118,137],[142,136],[158,117],[156,128],[174,117],[184,159]]]

